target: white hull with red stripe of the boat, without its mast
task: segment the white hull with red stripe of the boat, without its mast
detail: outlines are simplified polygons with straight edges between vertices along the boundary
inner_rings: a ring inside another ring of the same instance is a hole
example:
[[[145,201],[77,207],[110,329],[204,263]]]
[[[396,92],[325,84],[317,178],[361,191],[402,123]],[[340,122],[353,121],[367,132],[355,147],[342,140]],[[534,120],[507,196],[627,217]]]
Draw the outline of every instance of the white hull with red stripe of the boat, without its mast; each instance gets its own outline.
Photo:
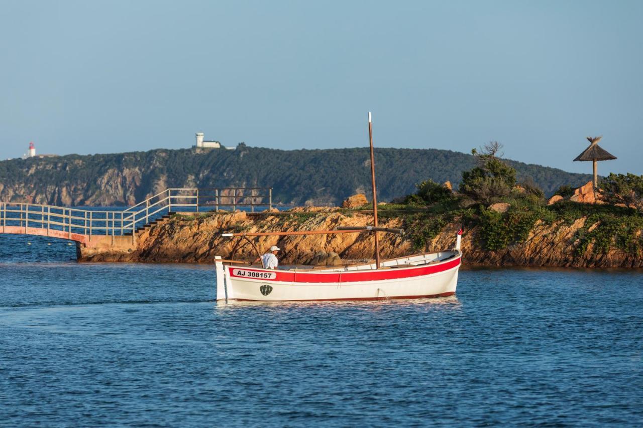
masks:
[[[460,254],[412,267],[363,270],[270,271],[217,263],[217,301],[332,301],[412,299],[455,294]]]

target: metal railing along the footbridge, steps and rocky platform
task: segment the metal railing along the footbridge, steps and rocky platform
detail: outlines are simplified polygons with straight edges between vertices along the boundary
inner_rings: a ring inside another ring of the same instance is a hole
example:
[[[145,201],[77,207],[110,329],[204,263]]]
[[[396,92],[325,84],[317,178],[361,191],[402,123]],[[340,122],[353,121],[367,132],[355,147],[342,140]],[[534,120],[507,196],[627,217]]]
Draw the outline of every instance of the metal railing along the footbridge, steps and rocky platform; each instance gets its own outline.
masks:
[[[201,212],[221,207],[272,208],[271,188],[171,188],[125,210],[81,210],[44,204],[0,202],[0,232],[7,227],[37,227],[62,231],[71,239],[80,235],[132,235],[137,227],[168,213],[186,210]],[[49,235],[49,233],[47,233]]]

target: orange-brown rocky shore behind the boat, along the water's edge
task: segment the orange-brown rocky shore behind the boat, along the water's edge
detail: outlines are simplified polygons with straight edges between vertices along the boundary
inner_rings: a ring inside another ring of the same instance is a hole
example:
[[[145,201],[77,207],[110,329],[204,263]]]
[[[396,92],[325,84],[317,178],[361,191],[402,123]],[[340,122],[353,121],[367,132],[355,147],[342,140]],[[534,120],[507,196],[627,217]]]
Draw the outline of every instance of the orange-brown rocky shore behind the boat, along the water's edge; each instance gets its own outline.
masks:
[[[595,251],[590,243],[585,251],[577,251],[580,240],[577,232],[586,227],[587,217],[574,222],[545,224],[537,220],[522,242],[504,249],[487,251],[479,245],[478,227],[465,229],[462,236],[463,264],[472,266],[525,267],[643,267],[643,258],[615,247]],[[148,229],[137,238],[134,251],[110,249],[78,249],[80,262],[143,262],[143,263],[213,263],[214,256],[252,261],[254,249],[247,242],[223,238],[225,232],[266,232],[295,230],[329,230],[337,226],[372,224],[372,216],[340,211],[299,211],[293,215],[271,215],[250,218],[244,212],[217,213],[201,217],[175,216],[165,223]],[[380,221],[383,227],[403,227],[403,217]],[[589,229],[598,224],[589,225]],[[393,258],[422,251],[449,249],[455,244],[460,222],[446,224],[424,249],[413,248],[408,236],[382,233],[381,256]],[[282,264],[338,264],[350,260],[372,258],[374,244],[367,233],[341,235],[262,236],[255,238],[260,251],[271,245],[282,249]],[[235,248],[235,244],[237,247]],[[341,258],[341,260],[340,260]]]

